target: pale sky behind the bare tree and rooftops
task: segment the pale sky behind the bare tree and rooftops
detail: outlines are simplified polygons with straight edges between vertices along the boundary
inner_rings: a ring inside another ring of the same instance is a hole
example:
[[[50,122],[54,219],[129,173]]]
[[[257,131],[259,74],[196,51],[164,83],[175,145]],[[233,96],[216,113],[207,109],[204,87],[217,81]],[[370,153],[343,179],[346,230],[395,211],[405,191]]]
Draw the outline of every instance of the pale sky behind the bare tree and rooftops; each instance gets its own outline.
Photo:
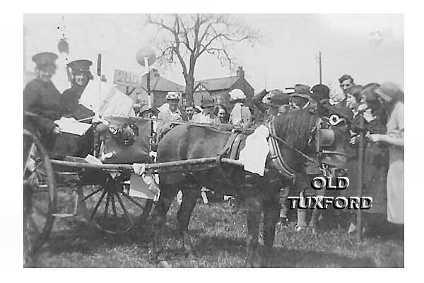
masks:
[[[401,14],[235,14],[264,36],[258,45],[240,45],[235,57],[255,92],[295,83],[319,83],[317,54],[322,52],[323,83],[338,91],[338,77],[351,74],[355,83],[394,81],[404,87],[404,16]],[[108,83],[114,69],[142,72],[136,62],[139,48],[151,44],[156,30],[140,14],[25,14],[25,66],[31,71],[33,54],[59,53],[65,33],[68,62],[102,53],[102,72]],[[59,29],[58,29],[59,27]],[[62,58],[64,60],[64,58]],[[161,76],[184,85],[179,64]],[[95,66],[92,69],[95,74]],[[195,79],[234,76],[214,57],[201,57]]]

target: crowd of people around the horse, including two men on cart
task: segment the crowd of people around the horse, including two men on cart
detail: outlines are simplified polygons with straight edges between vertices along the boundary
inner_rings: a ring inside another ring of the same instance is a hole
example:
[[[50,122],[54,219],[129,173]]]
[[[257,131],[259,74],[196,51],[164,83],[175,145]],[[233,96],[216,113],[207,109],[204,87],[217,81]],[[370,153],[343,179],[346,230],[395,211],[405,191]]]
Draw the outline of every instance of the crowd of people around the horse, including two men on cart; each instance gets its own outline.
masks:
[[[30,81],[23,91],[25,113],[31,114],[28,116],[30,118],[25,118],[25,127],[33,125],[49,151],[54,149],[57,138],[63,139],[61,129],[54,121],[64,116],[92,122],[90,117],[95,117],[93,110],[78,102],[87,84],[93,79],[90,73],[92,62],[77,60],[68,64],[71,70],[71,88],[61,94],[52,83],[56,59],[57,55],[54,53],[35,54],[33,61],[36,64],[37,78]],[[99,110],[104,115],[157,117],[155,132],[158,140],[175,126],[172,122],[178,121],[232,124],[243,128],[270,122],[281,113],[299,109],[314,107],[322,115],[335,112],[350,120],[352,125],[349,149],[351,176],[355,175],[358,168],[355,158],[361,129],[357,121],[358,117],[364,117],[367,129],[364,187],[374,197],[374,208],[370,212],[387,214],[388,221],[404,224],[404,92],[391,82],[361,86],[350,75],[343,75],[338,81],[344,98],[336,104],[330,103],[330,90],[327,86],[318,84],[310,88],[304,84],[296,84],[288,91],[263,90],[257,93],[252,100],[254,107],[251,105],[250,108],[246,105],[245,93],[237,88],[232,89],[229,93],[231,111],[225,105],[217,104],[213,97],[204,98],[201,105],[189,104],[180,110],[180,93],[167,93],[166,103],[158,109],[135,107],[134,101],[115,89],[102,101]],[[86,136],[86,141],[88,139],[91,139],[90,135]],[[66,142],[62,143],[65,148],[61,150],[71,151],[73,154],[88,154],[86,145],[89,142],[86,141],[79,139],[78,142],[73,142],[66,138]],[[208,189],[203,188],[204,202],[208,202],[206,192]],[[289,188],[282,188],[282,221],[287,219],[284,200],[289,192]],[[305,213],[298,212],[298,230],[307,226]],[[349,231],[354,229],[352,221]]]

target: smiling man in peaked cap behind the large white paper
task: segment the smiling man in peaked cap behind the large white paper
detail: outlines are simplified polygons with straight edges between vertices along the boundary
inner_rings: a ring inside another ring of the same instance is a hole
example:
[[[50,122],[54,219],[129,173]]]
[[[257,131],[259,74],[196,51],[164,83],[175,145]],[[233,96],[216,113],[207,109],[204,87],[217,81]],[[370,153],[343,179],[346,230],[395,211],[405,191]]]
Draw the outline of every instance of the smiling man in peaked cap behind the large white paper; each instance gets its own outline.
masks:
[[[65,115],[74,117],[76,120],[93,117],[94,112],[79,103],[89,81],[93,79],[90,66],[93,62],[89,60],[76,60],[67,65],[71,70],[71,88],[66,89],[61,96],[61,110]]]

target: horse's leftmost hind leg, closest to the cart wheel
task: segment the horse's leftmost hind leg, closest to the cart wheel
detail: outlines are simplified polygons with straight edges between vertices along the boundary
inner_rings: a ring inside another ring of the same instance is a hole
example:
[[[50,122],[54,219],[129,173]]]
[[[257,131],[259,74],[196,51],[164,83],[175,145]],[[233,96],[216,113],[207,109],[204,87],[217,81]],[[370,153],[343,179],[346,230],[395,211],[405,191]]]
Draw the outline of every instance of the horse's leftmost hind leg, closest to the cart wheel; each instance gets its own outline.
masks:
[[[177,190],[173,185],[160,186],[160,197],[152,212],[153,250],[155,253],[159,253],[163,249],[163,229],[166,223],[166,214],[175,195],[177,195]]]

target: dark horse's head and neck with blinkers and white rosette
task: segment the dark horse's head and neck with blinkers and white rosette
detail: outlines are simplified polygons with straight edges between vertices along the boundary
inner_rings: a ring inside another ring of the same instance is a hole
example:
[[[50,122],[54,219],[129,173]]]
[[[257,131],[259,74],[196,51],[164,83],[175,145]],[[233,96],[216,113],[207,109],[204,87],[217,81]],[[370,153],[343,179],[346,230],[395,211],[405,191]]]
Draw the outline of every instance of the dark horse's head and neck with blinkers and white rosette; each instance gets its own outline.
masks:
[[[343,175],[346,169],[349,122],[343,115],[319,115],[311,109],[280,115],[274,120],[279,147],[286,163],[295,171],[313,160],[331,175]]]

